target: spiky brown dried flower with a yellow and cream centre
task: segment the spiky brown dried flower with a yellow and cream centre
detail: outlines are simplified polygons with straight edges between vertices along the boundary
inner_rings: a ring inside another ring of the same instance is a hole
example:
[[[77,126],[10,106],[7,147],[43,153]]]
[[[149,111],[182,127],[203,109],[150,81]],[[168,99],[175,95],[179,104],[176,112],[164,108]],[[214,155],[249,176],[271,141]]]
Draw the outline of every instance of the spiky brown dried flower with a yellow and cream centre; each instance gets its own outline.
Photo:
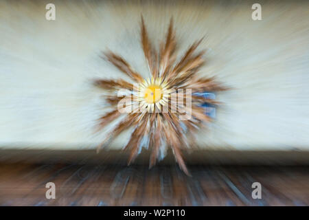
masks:
[[[156,53],[148,39],[144,19],[141,17],[141,45],[151,75],[148,79],[141,77],[117,54],[104,53],[108,61],[134,80],[137,86],[122,79],[95,80],[95,85],[111,92],[105,96],[105,99],[113,108],[113,111],[100,118],[100,129],[123,114],[117,109],[120,100],[130,101],[129,104],[126,102],[125,106],[133,109],[133,111],[125,112],[126,117],[107,135],[102,144],[98,146],[98,151],[112,137],[116,137],[126,129],[133,128],[130,140],[124,147],[124,149],[130,150],[128,164],[137,157],[141,142],[146,137],[148,148],[152,151],[150,167],[155,165],[165,146],[170,146],[180,168],[189,174],[181,150],[192,146],[196,131],[203,126],[204,122],[210,120],[209,116],[205,115],[201,104],[204,102],[218,104],[214,100],[194,96],[194,93],[226,89],[216,83],[214,78],[198,78],[196,76],[204,64],[203,54],[205,51],[195,53],[201,41],[196,41],[188,48],[180,61],[176,62],[176,40],[172,19],[165,42],[161,43],[159,53]],[[115,94],[115,91],[119,91],[119,89],[127,89],[128,93],[119,97]],[[179,89],[191,89],[193,96],[190,94],[188,97],[187,93],[183,94],[179,92]],[[175,97],[173,95],[176,95],[176,99],[173,98]],[[179,103],[177,101],[179,98],[185,98],[185,102]],[[188,98],[190,98],[190,103]],[[181,120],[181,115],[187,110],[190,111],[192,117]]]

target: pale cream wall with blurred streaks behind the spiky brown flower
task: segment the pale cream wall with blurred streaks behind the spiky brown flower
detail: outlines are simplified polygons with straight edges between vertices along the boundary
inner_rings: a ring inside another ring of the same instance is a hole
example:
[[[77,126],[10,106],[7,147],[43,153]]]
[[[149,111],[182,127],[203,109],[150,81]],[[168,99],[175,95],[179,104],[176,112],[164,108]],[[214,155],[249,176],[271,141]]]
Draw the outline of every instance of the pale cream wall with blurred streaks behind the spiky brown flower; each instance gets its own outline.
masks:
[[[179,54],[206,36],[201,74],[233,88],[218,94],[201,147],[309,149],[308,1],[261,1],[261,21],[253,1],[52,2],[55,21],[49,1],[0,1],[1,148],[95,148],[111,128],[94,133],[105,110],[90,82],[123,77],[100,58],[106,49],[147,76],[142,13],[155,45],[174,18]]]

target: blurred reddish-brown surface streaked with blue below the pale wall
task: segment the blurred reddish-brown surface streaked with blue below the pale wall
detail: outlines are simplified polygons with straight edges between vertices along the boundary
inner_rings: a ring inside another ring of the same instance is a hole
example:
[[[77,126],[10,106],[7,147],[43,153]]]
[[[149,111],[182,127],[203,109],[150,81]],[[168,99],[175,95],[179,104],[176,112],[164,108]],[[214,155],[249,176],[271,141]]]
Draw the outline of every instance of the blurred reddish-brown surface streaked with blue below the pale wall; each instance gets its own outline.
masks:
[[[0,164],[1,206],[308,206],[308,166]],[[253,199],[253,182],[262,199]],[[46,199],[47,182],[56,199]]]

